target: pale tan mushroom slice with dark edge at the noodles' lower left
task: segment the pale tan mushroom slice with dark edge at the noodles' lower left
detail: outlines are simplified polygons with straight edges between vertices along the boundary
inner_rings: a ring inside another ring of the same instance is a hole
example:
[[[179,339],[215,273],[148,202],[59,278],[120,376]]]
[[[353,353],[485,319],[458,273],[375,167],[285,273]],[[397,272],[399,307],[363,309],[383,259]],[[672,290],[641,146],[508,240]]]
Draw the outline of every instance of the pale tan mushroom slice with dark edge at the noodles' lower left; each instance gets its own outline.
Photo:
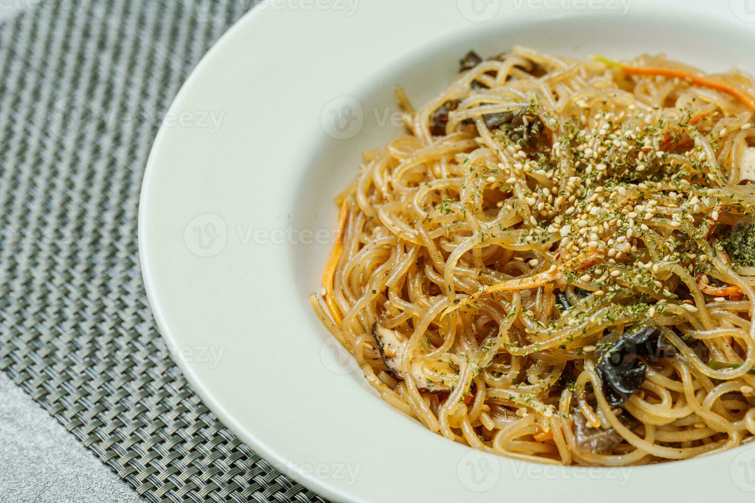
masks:
[[[405,379],[402,373],[402,360],[404,357],[404,350],[408,343],[408,338],[402,336],[396,330],[390,330],[383,327],[381,324],[372,324],[372,336],[377,343],[377,351],[380,351],[380,355],[383,358],[383,363],[388,367],[391,373],[398,379]],[[411,379],[414,380],[414,384],[420,391],[427,391],[429,393],[442,393],[444,391],[451,391],[451,383],[458,381],[458,375],[451,373],[446,374],[442,381],[433,381],[429,379],[422,370],[422,363],[411,362],[409,373]]]

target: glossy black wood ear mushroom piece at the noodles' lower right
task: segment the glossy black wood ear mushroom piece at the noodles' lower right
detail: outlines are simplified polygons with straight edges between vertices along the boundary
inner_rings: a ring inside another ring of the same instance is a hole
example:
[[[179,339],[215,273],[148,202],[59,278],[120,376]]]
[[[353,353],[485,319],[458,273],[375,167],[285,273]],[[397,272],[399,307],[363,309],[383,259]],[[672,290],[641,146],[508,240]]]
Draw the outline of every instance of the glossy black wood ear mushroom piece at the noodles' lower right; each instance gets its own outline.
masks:
[[[596,371],[611,406],[626,402],[643,385],[647,365],[638,356],[657,359],[676,354],[676,348],[654,326],[629,327],[621,336],[607,339],[599,343]]]

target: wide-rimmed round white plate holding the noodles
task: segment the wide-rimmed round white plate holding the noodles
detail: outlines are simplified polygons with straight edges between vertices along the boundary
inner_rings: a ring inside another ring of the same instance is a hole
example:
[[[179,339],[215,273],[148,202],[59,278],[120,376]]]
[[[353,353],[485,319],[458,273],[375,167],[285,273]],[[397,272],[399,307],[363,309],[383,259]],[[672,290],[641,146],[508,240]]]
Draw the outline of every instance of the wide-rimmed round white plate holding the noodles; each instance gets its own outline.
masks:
[[[751,446],[610,470],[545,468],[448,442],[381,402],[307,303],[331,248],[333,196],[356,175],[359,152],[396,133],[396,83],[419,103],[451,81],[468,49],[497,54],[513,43],[583,57],[665,52],[710,71],[753,70],[755,11],[745,2],[256,8],[184,85],[144,178],[144,280],[187,379],[260,455],[339,501],[658,501],[691,486],[697,501],[747,497]]]

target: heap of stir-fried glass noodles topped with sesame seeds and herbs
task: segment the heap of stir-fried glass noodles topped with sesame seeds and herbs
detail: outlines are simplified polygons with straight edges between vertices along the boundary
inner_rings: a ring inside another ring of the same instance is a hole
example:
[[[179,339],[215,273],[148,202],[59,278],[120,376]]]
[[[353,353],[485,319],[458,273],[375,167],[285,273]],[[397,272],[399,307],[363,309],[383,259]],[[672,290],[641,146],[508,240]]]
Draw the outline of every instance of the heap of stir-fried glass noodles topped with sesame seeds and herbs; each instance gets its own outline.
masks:
[[[363,155],[326,327],[477,449],[642,465],[755,438],[755,80],[663,57],[482,60]]]

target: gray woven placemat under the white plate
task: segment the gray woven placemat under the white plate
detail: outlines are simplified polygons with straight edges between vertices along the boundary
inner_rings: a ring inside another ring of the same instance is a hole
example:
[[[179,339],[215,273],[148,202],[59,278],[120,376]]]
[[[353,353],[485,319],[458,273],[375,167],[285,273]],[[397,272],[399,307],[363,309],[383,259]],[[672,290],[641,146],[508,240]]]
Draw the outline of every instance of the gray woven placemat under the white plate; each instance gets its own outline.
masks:
[[[253,2],[28,3],[0,24],[0,370],[149,501],[324,501],[194,394],[138,262],[162,114]]]

